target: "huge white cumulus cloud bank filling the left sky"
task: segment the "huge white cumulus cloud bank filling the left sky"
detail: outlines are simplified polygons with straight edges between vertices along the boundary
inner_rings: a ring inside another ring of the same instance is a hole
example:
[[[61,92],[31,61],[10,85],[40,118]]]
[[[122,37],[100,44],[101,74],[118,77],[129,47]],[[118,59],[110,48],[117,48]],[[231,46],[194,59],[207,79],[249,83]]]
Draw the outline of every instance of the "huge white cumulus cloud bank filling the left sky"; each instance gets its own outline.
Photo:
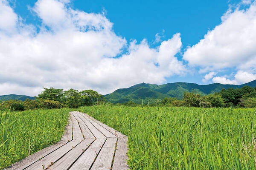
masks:
[[[8,12],[0,10],[0,22],[5,17],[11,22],[0,24],[0,95],[37,95],[42,87],[107,94],[143,81],[163,83],[186,72],[175,57],[182,46],[179,33],[157,48],[150,48],[147,40],[127,43],[105,15],[74,10],[67,7],[69,2],[38,0],[32,7],[42,21],[36,31],[0,0],[0,9]]]

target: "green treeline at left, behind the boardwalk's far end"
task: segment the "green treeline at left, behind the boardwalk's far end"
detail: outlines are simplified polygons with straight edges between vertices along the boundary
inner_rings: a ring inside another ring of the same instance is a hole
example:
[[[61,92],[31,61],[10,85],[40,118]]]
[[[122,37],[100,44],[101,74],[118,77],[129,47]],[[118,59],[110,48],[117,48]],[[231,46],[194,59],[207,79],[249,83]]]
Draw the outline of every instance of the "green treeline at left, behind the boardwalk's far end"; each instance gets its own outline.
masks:
[[[0,102],[0,108],[12,109],[14,111],[33,110],[38,108],[78,108],[79,106],[90,106],[95,103],[104,102],[103,95],[93,90],[78,91],[70,89],[44,88],[44,91],[35,97],[35,100],[26,99],[8,100]]]

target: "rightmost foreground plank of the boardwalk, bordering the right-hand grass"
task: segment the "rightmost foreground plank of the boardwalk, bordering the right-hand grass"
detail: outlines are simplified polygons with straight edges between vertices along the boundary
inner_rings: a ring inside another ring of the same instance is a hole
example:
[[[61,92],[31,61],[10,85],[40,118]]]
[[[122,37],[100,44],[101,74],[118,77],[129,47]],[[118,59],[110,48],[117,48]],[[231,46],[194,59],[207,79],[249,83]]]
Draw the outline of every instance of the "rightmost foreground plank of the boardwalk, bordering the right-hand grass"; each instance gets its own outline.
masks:
[[[128,160],[127,142],[128,142],[127,136],[118,138],[112,170],[128,170],[129,169],[127,165],[127,160]]]

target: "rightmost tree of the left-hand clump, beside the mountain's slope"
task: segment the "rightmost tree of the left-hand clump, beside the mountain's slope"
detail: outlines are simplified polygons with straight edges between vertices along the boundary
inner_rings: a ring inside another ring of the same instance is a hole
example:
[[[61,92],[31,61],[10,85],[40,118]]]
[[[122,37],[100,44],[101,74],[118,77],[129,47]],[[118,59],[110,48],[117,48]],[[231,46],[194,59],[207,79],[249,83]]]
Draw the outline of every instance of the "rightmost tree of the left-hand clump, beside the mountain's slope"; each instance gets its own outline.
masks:
[[[81,105],[90,106],[97,101],[104,100],[103,95],[98,94],[97,91],[85,90],[80,92]]]

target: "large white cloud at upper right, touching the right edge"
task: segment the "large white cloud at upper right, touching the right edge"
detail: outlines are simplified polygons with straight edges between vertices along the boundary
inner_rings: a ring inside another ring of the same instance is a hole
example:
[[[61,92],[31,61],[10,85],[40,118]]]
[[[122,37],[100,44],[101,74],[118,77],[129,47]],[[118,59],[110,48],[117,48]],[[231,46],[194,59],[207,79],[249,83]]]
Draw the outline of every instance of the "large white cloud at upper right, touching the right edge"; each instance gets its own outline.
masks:
[[[255,68],[256,2],[246,10],[228,10],[221,19],[220,25],[185,51],[183,59],[189,65],[200,66],[201,72],[232,67]]]

